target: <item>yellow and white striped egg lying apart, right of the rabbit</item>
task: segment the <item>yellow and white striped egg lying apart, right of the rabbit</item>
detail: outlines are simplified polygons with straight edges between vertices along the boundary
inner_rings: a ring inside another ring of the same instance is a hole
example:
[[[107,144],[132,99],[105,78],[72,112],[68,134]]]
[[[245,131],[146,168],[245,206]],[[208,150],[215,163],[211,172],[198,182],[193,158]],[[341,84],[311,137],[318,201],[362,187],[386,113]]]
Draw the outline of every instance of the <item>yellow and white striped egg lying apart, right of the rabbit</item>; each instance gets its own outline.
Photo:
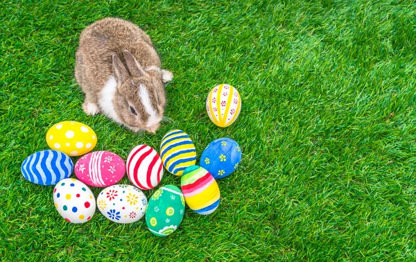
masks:
[[[241,98],[239,91],[232,85],[217,85],[207,96],[209,119],[220,128],[225,128],[239,117]]]

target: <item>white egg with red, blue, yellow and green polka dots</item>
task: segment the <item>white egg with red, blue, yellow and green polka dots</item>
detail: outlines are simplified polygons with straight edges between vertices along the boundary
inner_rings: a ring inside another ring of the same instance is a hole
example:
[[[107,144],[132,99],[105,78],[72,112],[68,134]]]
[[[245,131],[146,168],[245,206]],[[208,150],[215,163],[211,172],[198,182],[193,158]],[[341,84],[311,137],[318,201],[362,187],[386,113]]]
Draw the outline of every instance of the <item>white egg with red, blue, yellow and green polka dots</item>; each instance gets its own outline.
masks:
[[[85,223],[94,216],[96,209],[92,191],[83,182],[66,178],[53,190],[56,210],[68,222]]]

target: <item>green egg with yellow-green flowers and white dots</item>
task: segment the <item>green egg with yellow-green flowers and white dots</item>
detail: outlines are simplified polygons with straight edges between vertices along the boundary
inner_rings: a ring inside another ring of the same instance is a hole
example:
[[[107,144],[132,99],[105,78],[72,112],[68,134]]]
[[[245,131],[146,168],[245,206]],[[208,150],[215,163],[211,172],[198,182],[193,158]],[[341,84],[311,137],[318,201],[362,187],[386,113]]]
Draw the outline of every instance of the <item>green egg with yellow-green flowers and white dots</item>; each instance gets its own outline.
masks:
[[[168,184],[157,189],[146,207],[146,224],[156,236],[168,236],[179,227],[184,218],[184,195]]]

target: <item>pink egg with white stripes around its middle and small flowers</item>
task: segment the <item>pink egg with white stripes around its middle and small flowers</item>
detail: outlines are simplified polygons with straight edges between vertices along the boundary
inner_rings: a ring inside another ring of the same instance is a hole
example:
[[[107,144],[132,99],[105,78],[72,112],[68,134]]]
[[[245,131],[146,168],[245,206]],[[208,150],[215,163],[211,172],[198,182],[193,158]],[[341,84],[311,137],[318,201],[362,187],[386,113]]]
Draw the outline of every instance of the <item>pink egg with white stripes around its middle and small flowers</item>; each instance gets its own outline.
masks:
[[[78,180],[89,186],[111,186],[125,174],[124,160],[113,152],[95,151],[83,155],[75,164]]]

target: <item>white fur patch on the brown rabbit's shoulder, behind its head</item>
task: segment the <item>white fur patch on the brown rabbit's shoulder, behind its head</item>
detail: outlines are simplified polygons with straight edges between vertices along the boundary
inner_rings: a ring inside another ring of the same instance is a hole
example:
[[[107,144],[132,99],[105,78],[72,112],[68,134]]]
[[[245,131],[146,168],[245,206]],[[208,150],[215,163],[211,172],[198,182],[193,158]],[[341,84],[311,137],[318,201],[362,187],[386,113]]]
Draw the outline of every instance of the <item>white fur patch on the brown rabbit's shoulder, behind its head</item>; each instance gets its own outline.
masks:
[[[116,114],[116,110],[114,110],[114,94],[117,91],[117,82],[114,79],[114,76],[110,76],[110,78],[105,83],[103,90],[100,93],[100,99],[98,100],[98,104],[100,105],[101,112],[103,112],[106,116],[110,117],[117,123],[122,123],[119,119],[119,116]]]

